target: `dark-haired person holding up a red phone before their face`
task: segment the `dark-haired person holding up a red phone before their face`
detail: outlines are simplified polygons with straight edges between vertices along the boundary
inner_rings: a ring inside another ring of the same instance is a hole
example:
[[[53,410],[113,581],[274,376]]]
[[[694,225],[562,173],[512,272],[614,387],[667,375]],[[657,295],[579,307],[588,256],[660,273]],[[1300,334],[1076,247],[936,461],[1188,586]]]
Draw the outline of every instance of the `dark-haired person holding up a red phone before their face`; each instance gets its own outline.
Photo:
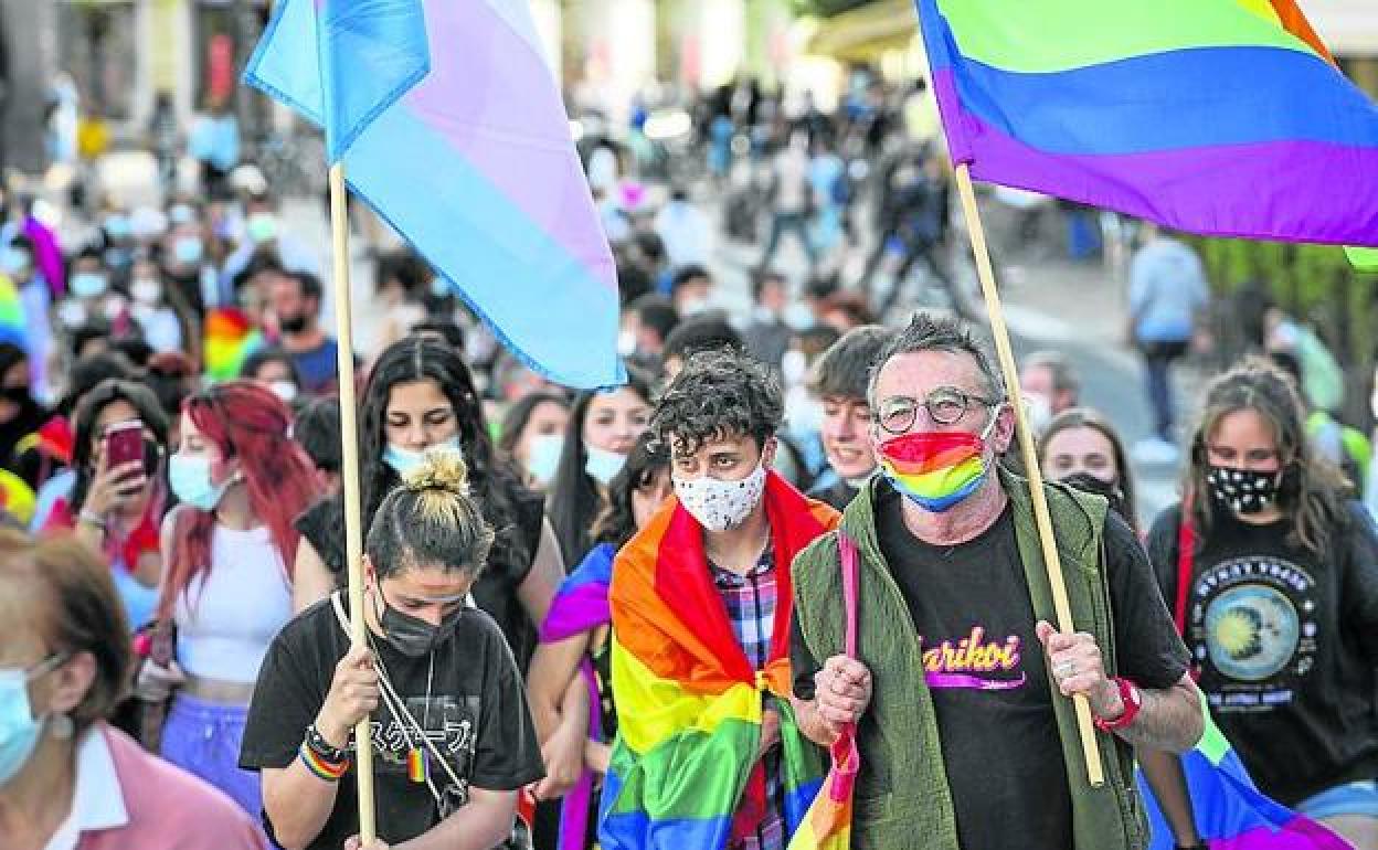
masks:
[[[152,390],[105,380],[76,411],[70,499],[58,500],[47,529],[76,529],[103,552],[131,628],[153,617],[163,558],[158,525],[167,507],[163,466],[168,423]]]

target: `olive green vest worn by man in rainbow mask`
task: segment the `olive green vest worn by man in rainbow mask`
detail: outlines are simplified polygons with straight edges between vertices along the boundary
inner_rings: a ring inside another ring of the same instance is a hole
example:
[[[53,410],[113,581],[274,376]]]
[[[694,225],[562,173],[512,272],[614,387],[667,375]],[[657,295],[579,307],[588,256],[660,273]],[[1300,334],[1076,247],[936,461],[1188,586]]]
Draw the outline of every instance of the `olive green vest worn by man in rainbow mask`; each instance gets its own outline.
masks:
[[[858,740],[861,759],[872,773],[867,784],[856,788],[852,846],[853,850],[959,850],[919,638],[876,539],[878,482],[871,481],[842,515],[842,529],[861,555],[857,654],[871,670],[874,697],[868,711],[876,721],[876,732],[870,736],[863,732]],[[1002,470],[1000,484],[1010,497],[1034,614],[1056,623],[1028,482]],[[1078,631],[1096,636],[1105,668],[1115,675],[1109,585],[1101,569],[1105,500],[1062,485],[1049,485],[1045,492],[1072,620]],[[842,653],[845,619],[836,532],[799,552],[792,577],[794,616],[810,653],[820,661]],[[1051,689],[1071,784],[1073,850],[1142,850],[1148,846],[1148,824],[1134,788],[1131,748],[1112,734],[1097,732],[1105,784],[1091,788],[1072,701],[1056,696],[1056,685]],[[1000,766],[991,765],[991,770]],[[1039,794],[1039,788],[1028,792]]]

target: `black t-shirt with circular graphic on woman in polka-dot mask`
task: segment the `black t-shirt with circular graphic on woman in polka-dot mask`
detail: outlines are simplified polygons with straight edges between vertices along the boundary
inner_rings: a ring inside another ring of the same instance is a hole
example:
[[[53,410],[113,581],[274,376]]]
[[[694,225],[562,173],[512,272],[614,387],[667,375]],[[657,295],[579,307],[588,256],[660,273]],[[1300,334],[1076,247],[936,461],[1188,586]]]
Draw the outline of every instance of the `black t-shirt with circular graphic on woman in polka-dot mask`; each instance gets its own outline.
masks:
[[[1148,536],[1163,598],[1177,598],[1181,507]],[[1226,515],[1195,557],[1184,635],[1211,714],[1258,787],[1295,805],[1378,776],[1378,535],[1357,503],[1324,558],[1291,524]]]

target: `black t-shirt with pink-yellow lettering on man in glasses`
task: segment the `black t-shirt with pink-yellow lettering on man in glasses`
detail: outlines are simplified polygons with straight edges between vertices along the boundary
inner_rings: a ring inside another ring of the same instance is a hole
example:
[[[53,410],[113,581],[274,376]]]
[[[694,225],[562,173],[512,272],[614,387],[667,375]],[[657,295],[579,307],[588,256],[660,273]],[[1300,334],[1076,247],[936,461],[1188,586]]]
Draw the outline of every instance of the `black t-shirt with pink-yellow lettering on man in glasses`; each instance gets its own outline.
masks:
[[[1065,850],[1072,800],[1010,508],[974,540],[929,546],[905,528],[900,499],[876,488],[876,533],[919,634],[962,849]],[[1118,672],[1170,687],[1186,672],[1186,650],[1148,558],[1119,517],[1107,518],[1104,541]],[[798,627],[791,659],[795,696],[812,698],[820,663]],[[863,774],[874,726],[871,714],[861,718]]]

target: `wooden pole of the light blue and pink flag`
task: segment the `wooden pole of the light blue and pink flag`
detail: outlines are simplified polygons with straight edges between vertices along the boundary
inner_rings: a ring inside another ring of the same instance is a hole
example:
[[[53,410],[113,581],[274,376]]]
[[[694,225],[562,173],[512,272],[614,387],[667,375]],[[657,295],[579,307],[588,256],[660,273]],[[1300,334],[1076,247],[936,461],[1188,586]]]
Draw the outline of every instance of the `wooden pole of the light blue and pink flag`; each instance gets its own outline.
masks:
[[[339,349],[340,482],[344,489],[344,563],[349,572],[350,638],[368,641],[364,623],[364,518],[358,478],[358,402],[354,398],[354,326],[349,281],[349,204],[344,164],[331,165],[331,234],[335,242],[335,342]],[[373,745],[365,716],[354,727],[354,777],[358,782],[358,836],[362,846],[378,838],[373,820]]]

